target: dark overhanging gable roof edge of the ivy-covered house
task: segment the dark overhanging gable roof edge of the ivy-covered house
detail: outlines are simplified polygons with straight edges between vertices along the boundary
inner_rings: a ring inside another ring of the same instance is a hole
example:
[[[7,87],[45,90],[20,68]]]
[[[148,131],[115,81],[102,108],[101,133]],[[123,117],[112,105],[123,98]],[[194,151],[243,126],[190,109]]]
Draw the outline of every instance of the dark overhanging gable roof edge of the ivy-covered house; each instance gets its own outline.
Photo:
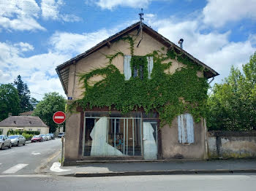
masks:
[[[104,41],[99,42],[99,44],[97,44],[96,46],[92,47],[89,50],[86,50],[86,52],[83,52],[80,55],[77,55],[74,58],[71,58],[69,61],[67,61],[65,63],[62,63],[61,65],[57,66],[56,67],[56,72],[59,75],[59,79],[61,80],[61,85],[64,88],[65,93],[67,94],[67,86],[68,86],[68,80],[69,80],[68,79],[69,78],[69,66],[70,65],[79,61],[82,58],[85,58],[88,55],[91,55],[92,53],[96,52],[97,50],[101,49],[102,47],[105,47],[105,46],[109,47],[111,43],[117,41],[122,36],[125,36],[125,35],[129,34],[130,32],[132,32],[136,29],[137,30],[140,29],[140,22],[135,23],[132,26],[129,26],[129,27],[125,28],[124,30],[118,32],[117,34],[114,34],[113,36],[110,36],[108,39],[105,39]],[[166,47],[169,47],[169,48],[173,47],[173,48],[175,48],[175,50],[177,52],[184,53],[192,61],[194,61],[195,63],[203,66],[206,69],[208,69],[208,71],[204,72],[204,75],[205,75],[206,78],[216,77],[216,76],[219,75],[217,73],[217,71],[214,71],[214,69],[211,69],[209,66],[206,66],[205,63],[202,63],[197,58],[193,57],[192,55],[190,55],[188,52],[186,52],[185,50],[178,47],[173,42],[170,42],[168,39],[166,39],[164,36],[159,34],[157,31],[154,31],[153,28],[147,26],[145,23],[143,23],[143,32],[146,32],[146,34],[152,36],[154,39],[157,39],[157,41],[161,42]]]

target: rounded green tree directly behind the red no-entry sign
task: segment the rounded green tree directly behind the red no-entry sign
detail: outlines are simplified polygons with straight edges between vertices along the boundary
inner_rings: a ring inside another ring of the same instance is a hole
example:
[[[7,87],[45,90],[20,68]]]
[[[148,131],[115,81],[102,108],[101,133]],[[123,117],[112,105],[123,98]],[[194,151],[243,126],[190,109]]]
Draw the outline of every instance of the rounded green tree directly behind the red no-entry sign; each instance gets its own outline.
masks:
[[[50,127],[50,132],[55,132],[58,125],[53,122],[53,114],[58,111],[65,112],[66,99],[59,93],[45,93],[42,101],[39,101],[34,115],[41,118]]]

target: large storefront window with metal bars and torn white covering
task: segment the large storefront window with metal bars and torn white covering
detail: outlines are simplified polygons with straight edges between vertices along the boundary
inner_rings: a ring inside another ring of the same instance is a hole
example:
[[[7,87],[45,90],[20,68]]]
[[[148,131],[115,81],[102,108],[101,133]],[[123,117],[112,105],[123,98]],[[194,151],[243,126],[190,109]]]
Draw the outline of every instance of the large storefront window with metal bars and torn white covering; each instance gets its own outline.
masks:
[[[84,156],[141,156],[140,112],[86,112]]]

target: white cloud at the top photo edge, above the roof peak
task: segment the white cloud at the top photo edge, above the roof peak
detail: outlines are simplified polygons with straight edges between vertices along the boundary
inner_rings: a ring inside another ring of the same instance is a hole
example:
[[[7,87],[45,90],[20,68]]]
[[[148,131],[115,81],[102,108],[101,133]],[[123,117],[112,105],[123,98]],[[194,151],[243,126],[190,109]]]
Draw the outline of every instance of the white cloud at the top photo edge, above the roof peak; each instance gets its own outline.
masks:
[[[141,8],[148,7],[148,4],[151,3],[152,0],[87,0],[86,4],[97,4],[102,9],[113,9],[118,6],[122,7],[132,7],[132,8]]]

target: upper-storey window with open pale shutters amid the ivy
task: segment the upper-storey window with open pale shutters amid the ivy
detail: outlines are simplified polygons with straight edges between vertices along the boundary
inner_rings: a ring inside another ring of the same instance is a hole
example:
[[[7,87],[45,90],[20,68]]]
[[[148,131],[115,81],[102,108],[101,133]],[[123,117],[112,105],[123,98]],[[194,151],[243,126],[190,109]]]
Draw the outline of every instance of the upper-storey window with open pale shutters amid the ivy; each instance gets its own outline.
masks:
[[[139,69],[134,68],[132,72],[131,65],[130,65],[131,59],[132,59],[131,55],[124,55],[125,80],[129,80],[131,77],[138,77],[139,74],[140,74],[140,79],[143,79],[143,66],[140,66]],[[154,66],[153,57],[147,57],[147,61],[148,61],[148,79],[151,79],[151,73]]]

